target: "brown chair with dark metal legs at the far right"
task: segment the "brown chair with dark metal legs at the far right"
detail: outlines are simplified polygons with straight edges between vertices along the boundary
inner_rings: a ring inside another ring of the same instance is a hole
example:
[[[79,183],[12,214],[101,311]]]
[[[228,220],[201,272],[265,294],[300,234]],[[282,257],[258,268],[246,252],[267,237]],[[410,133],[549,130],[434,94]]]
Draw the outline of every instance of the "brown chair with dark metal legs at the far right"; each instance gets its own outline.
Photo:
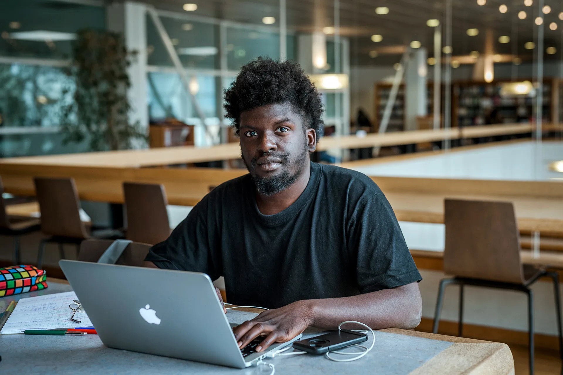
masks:
[[[520,234],[511,202],[445,200],[446,242],[444,272],[454,275],[442,279],[436,301],[433,333],[437,333],[444,289],[459,285],[459,332],[463,333],[463,287],[466,285],[515,290],[528,296],[530,374],[534,373],[534,305],[531,284],[550,277],[555,291],[559,350],[563,358],[559,277],[530,265],[520,258]]]

